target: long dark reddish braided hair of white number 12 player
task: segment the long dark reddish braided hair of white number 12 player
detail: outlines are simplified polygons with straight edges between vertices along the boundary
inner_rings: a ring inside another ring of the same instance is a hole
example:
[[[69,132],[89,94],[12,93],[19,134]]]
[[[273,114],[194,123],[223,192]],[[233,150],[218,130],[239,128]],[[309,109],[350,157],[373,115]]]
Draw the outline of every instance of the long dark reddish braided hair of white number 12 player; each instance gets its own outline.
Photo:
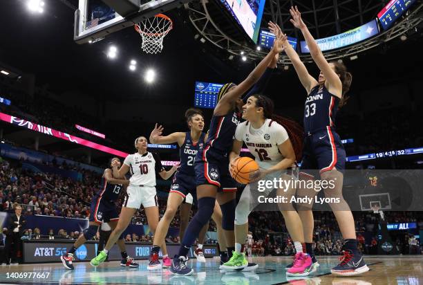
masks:
[[[303,128],[294,120],[283,118],[281,116],[275,115],[274,103],[273,101],[264,95],[252,95],[256,98],[256,107],[263,108],[263,116],[266,119],[271,119],[277,122],[279,125],[284,127],[290,137],[292,148],[295,152],[295,158],[297,161],[301,159],[303,151]]]

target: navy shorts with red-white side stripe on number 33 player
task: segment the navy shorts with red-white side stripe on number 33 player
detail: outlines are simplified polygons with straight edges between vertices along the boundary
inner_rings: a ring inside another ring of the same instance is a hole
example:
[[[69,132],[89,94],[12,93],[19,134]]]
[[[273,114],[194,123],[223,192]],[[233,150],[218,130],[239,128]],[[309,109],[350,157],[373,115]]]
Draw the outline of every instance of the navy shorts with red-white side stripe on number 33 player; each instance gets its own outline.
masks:
[[[346,154],[337,132],[330,128],[306,134],[300,175],[312,176],[337,169],[344,172]],[[319,172],[317,172],[319,170]]]

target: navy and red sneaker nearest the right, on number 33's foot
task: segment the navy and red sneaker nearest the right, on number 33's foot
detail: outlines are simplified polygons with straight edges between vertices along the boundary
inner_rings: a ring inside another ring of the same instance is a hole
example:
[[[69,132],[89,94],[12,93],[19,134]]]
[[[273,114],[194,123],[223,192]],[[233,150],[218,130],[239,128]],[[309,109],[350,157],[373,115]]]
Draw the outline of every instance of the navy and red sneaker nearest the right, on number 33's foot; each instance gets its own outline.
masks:
[[[357,252],[353,254],[351,250],[343,250],[341,261],[330,272],[337,276],[355,276],[367,272],[369,269],[364,262],[363,256]]]

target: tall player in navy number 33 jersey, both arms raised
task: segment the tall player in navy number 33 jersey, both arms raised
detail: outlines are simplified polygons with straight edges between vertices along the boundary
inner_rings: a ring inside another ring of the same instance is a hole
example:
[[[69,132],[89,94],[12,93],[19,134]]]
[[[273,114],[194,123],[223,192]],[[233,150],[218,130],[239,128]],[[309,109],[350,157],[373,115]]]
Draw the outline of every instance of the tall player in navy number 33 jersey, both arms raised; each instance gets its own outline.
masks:
[[[344,237],[343,257],[341,262],[331,272],[335,275],[354,276],[368,271],[364,259],[357,249],[357,238],[355,235],[355,222],[353,214],[342,196],[342,184],[344,181],[343,171],[345,169],[346,154],[339,135],[335,131],[335,115],[338,107],[345,104],[346,93],[350,89],[352,76],[346,71],[346,67],[338,62],[328,63],[321,53],[319,46],[314,41],[306,24],[301,19],[301,13],[297,6],[291,7],[290,21],[296,28],[301,30],[306,39],[312,59],[320,69],[319,80],[315,80],[307,71],[306,66],[290,46],[288,41],[284,42],[285,52],[290,57],[295,71],[308,93],[304,110],[304,131],[306,139],[303,149],[303,160],[301,170],[320,169],[321,179],[334,181],[333,189],[325,189],[326,197],[340,199],[340,203],[330,203],[339,229]],[[274,24],[271,29],[280,30]],[[314,178],[312,173],[303,173],[309,179]],[[304,233],[308,247],[308,253],[312,252],[312,232],[314,221],[311,208],[299,211],[303,221]],[[314,256],[313,256],[314,258]],[[315,261],[315,259],[314,259]]]

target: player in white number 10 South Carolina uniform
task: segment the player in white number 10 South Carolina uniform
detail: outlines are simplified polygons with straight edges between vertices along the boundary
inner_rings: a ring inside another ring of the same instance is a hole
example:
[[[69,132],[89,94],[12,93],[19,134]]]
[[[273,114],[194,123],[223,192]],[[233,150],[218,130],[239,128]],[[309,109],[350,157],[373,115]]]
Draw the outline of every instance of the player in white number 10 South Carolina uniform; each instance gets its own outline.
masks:
[[[135,149],[138,149],[138,152],[126,156],[120,169],[118,169],[116,163],[112,165],[113,176],[123,178],[131,170],[131,178],[129,179],[129,186],[126,190],[126,197],[122,205],[118,225],[111,232],[104,250],[100,251],[97,257],[91,259],[91,265],[93,266],[98,266],[106,260],[109,250],[118,240],[118,237],[126,230],[133,214],[141,205],[144,206],[151,232],[156,232],[159,221],[156,173],[166,180],[176,172],[176,167],[173,166],[169,171],[164,170],[158,154],[147,151],[147,144],[147,138],[140,136],[135,140]],[[162,251],[164,253],[163,259],[169,259],[164,244],[162,245]]]

